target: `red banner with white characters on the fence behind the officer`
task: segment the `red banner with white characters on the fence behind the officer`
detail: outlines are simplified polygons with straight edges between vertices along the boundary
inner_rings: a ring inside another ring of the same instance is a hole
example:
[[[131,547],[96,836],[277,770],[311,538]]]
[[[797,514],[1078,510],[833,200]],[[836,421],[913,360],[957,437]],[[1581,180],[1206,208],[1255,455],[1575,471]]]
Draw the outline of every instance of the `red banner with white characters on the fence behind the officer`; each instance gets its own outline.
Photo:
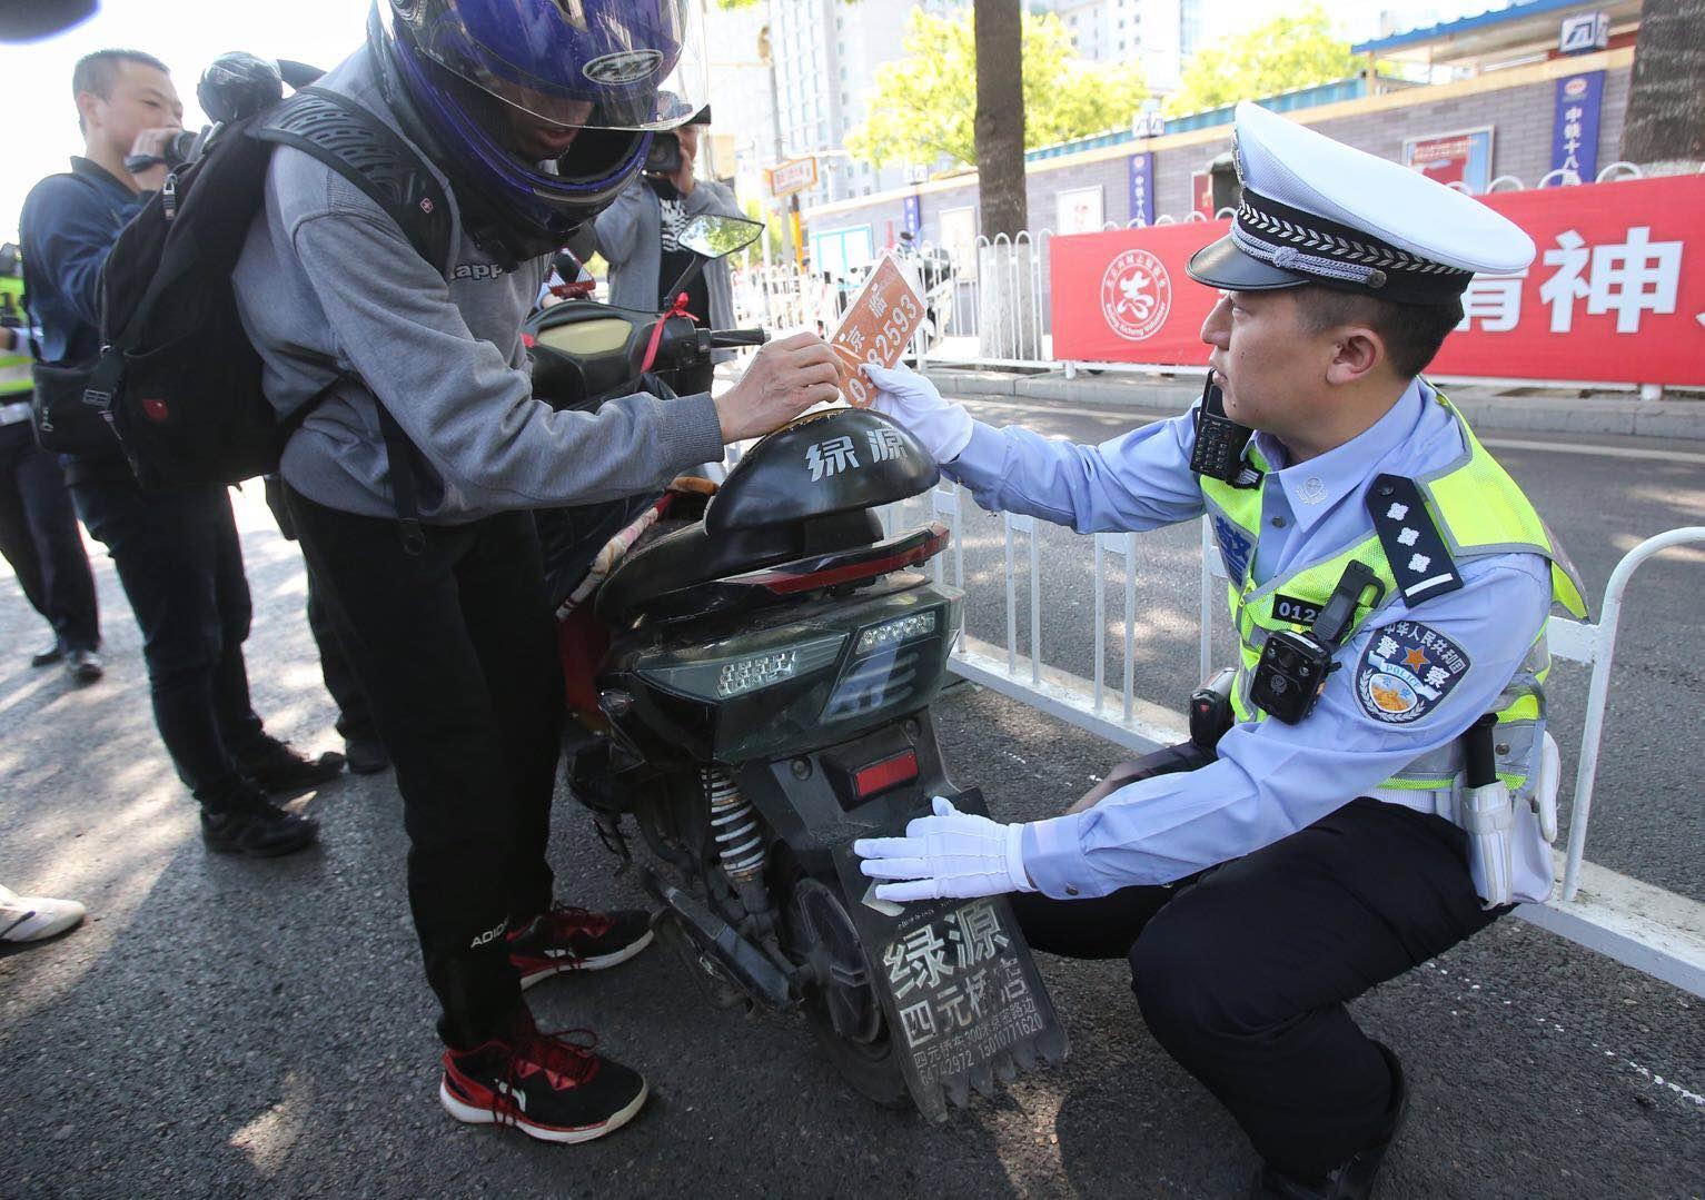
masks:
[[[1521,276],[1477,276],[1439,375],[1705,385],[1705,174],[1485,198],[1533,237]],[[1207,361],[1216,291],[1185,262],[1231,222],[1050,242],[1054,356]]]

